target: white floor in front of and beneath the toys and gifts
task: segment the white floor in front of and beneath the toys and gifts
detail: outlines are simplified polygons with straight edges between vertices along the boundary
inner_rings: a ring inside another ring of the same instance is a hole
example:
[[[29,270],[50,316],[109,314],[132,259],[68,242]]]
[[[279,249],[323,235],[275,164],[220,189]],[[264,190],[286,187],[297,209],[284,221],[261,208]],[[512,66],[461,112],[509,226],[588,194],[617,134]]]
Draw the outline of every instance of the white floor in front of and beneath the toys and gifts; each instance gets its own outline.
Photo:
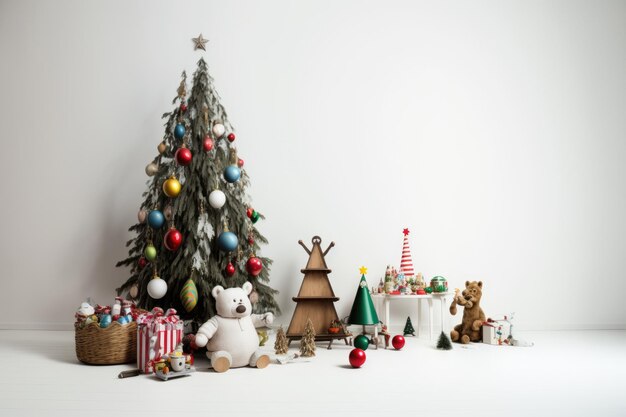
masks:
[[[319,344],[299,363],[163,382],[80,364],[73,332],[0,331],[0,416],[626,416],[626,331],[517,336],[535,346],[439,351],[422,336],[352,369],[350,348]]]

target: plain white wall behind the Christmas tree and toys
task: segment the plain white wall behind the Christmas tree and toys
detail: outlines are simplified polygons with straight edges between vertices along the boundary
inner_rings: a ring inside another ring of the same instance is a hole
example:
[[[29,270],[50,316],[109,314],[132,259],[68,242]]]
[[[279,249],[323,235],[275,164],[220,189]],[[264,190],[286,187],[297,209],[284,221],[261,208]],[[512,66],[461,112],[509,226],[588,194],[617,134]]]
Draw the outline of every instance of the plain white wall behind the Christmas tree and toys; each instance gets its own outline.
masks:
[[[0,327],[112,301],[160,116],[204,56],[284,322],[298,239],[336,242],[347,315],[409,227],[416,268],[483,280],[488,315],[624,328],[625,20],[621,1],[2,0]]]

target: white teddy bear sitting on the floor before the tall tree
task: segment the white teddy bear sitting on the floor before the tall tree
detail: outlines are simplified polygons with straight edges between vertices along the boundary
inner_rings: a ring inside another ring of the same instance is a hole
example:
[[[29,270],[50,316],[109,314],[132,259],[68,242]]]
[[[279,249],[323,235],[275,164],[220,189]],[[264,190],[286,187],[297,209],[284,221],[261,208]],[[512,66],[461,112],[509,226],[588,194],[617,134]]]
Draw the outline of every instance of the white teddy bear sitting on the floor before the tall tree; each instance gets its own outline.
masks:
[[[226,372],[231,367],[253,366],[265,368],[270,363],[268,355],[259,350],[256,327],[272,324],[272,313],[251,314],[252,305],[248,294],[252,284],[243,287],[213,288],[217,315],[204,323],[196,333],[198,347],[207,347],[207,357],[217,372]]]

